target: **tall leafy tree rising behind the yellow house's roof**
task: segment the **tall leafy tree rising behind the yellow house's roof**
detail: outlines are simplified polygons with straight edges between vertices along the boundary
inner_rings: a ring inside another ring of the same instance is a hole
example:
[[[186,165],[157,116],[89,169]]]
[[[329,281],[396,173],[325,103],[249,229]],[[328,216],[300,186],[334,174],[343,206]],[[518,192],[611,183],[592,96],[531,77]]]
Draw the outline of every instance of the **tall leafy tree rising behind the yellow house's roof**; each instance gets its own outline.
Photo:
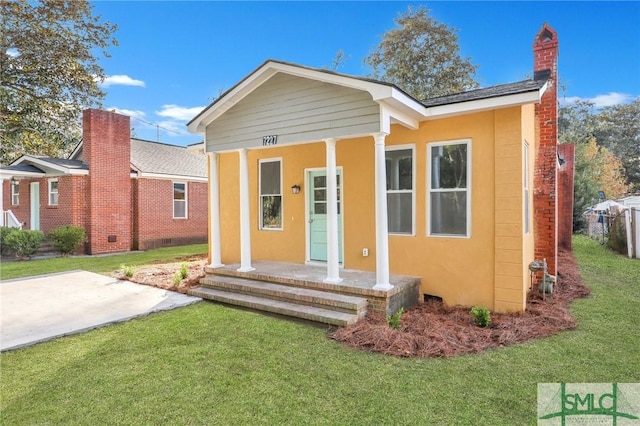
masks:
[[[459,54],[456,30],[420,6],[395,19],[374,52],[364,58],[371,77],[393,83],[416,99],[463,92],[478,86],[477,66]]]

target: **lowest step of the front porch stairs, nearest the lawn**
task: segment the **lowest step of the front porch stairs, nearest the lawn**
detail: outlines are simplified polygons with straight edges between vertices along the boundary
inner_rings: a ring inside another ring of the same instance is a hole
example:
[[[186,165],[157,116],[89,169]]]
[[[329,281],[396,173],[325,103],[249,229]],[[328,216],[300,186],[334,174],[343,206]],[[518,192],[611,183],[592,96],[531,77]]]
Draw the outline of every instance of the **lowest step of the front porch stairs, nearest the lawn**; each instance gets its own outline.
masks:
[[[356,314],[349,314],[346,312],[339,312],[330,309],[319,308],[316,306],[300,305],[281,300],[273,300],[260,296],[253,296],[250,294],[234,293],[203,286],[195,287],[189,290],[189,294],[191,296],[214,300],[216,302],[243,306],[245,308],[272,312],[290,317],[303,318],[310,321],[337,326],[354,324],[359,319],[361,319],[361,317]]]

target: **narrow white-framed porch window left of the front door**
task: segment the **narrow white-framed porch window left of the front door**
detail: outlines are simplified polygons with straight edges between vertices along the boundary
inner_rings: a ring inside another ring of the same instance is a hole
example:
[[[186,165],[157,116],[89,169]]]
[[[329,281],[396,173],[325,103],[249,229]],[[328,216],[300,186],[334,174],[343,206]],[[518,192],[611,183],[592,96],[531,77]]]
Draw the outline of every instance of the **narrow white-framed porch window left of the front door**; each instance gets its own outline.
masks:
[[[260,160],[260,229],[282,229],[282,161]]]

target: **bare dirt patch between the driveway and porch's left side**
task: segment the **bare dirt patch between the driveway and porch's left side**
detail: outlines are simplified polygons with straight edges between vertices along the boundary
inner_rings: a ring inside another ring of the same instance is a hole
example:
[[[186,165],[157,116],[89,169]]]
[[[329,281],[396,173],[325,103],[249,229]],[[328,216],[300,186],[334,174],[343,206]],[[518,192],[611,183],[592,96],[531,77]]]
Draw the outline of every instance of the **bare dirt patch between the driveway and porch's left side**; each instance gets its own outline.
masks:
[[[176,283],[174,277],[176,273],[180,272],[183,263],[187,269],[187,277],[180,279],[180,281]],[[200,278],[205,276],[204,268],[206,264],[206,255],[185,256],[176,259],[176,262],[172,263],[153,263],[140,267],[134,266],[131,277],[127,277],[125,271],[121,269],[114,271],[111,276],[120,280],[128,280],[138,284],[187,293],[190,288],[200,285]]]

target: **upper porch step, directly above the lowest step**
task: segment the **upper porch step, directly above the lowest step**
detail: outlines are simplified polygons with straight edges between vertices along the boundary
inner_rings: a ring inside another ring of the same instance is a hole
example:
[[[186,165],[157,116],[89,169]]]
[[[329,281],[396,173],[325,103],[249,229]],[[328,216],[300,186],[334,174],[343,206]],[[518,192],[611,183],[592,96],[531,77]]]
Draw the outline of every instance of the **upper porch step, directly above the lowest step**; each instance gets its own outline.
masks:
[[[232,276],[209,275],[200,280],[206,287],[234,293],[251,294],[284,302],[316,306],[361,315],[366,312],[367,299],[345,294],[292,287],[267,281]]]

